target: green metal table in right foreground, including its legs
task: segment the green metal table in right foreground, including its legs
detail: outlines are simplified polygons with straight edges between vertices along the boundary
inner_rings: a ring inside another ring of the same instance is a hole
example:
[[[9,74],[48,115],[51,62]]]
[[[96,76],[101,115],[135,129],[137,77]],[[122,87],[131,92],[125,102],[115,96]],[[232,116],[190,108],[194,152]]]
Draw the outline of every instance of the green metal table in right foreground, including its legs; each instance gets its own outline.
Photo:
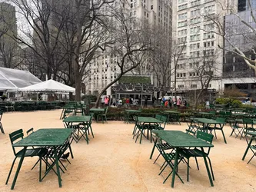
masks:
[[[201,147],[201,151],[204,151],[203,147],[214,147],[213,144],[208,144],[206,141],[202,141],[201,139],[198,139],[190,134],[186,134],[182,131],[164,131],[164,130],[153,130],[153,134],[156,136],[155,144],[154,147],[151,151],[150,159],[154,154],[155,151],[155,145],[158,142],[158,138],[161,140],[164,140],[167,142],[169,145],[175,148],[176,153],[175,153],[175,164],[173,168],[173,173],[172,173],[172,180],[171,180],[171,187],[174,187],[175,185],[175,175],[176,175],[176,170],[178,168],[178,157],[179,157],[179,150],[184,147]],[[213,181],[211,178],[211,173],[208,167],[208,162],[206,160],[206,157],[204,157],[204,164],[206,167],[206,170],[208,172],[208,177],[211,183],[211,186],[213,187]]]

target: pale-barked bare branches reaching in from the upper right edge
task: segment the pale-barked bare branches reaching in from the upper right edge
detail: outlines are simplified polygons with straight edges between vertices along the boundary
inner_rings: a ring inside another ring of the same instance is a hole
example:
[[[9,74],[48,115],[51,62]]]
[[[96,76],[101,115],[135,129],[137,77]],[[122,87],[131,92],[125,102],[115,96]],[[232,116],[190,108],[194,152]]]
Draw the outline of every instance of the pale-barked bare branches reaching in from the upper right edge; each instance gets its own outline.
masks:
[[[224,44],[220,43],[219,48],[224,51],[238,55],[244,59],[246,65],[254,69],[256,73],[256,52],[254,45],[256,40],[256,29],[254,25],[256,23],[255,10],[251,6],[251,0],[246,0],[248,5],[248,13],[246,17],[243,17],[237,12],[236,4],[231,5],[223,2],[218,2],[218,8],[220,12],[226,12],[231,14],[233,18],[230,21],[224,21],[223,14],[211,14],[202,15],[204,19],[211,21],[214,28],[204,29],[206,32],[212,32],[216,35],[220,35],[224,39]],[[241,41],[244,41],[241,43]],[[251,50],[252,54],[246,54]],[[254,55],[254,57],[251,57]]]

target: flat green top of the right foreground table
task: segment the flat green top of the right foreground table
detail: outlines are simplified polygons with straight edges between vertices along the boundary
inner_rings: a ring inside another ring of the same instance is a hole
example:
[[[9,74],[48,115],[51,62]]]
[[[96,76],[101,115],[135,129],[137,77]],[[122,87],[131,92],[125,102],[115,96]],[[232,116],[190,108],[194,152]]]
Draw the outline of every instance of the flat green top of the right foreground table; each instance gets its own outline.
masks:
[[[172,147],[214,147],[213,144],[209,144],[182,131],[153,130],[152,133],[156,134],[157,137],[160,137]]]

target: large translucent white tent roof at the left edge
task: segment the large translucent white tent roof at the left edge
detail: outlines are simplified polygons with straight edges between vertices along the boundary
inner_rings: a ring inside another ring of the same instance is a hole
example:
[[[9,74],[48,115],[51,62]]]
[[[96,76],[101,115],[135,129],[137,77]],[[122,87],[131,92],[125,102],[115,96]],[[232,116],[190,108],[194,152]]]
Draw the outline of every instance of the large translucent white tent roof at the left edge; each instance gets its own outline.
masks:
[[[42,82],[29,71],[0,68],[0,91],[17,91],[32,84]]]

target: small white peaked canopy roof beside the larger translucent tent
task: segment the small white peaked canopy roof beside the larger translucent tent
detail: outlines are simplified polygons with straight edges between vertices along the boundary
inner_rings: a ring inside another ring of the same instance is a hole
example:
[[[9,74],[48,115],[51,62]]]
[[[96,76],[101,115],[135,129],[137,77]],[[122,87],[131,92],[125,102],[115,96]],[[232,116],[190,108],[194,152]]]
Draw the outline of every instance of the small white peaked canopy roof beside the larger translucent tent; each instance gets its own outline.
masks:
[[[33,84],[25,88],[20,88],[18,90],[27,92],[75,92],[75,88],[59,83],[52,79],[43,81],[38,84]]]

